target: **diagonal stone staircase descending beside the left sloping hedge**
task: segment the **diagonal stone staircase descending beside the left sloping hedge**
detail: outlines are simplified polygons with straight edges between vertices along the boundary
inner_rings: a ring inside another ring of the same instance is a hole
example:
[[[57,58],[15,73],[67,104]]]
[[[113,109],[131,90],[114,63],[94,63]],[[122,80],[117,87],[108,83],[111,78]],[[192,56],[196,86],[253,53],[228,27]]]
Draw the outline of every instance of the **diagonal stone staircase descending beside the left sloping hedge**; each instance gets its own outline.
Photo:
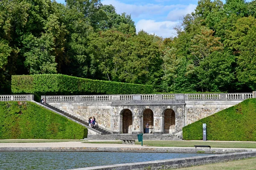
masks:
[[[71,115],[71,114],[69,114],[69,113],[66,113],[66,112],[64,112],[64,111],[61,111],[60,109],[55,108],[55,107],[53,107],[52,105],[45,104],[44,106],[46,106],[47,108],[50,108],[50,109],[52,109],[52,110],[54,110],[54,111],[57,111],[58,113],[61,113],[61,114],[65,115],[65,116],[67,116],[67,117],[69,117],[69,118],[71,118],[71,119],[73,119],[73,120],[76,120],[77,122],[80,122],[81,124],[84,124],[84,125],[86,125],[86,126],[89,127],[88,121],[84,121],[84,120],[82,120],[82,119],[79,119],[78,117],[73,116],[73,115]],[[98,126],[94,126],[94,127],[92,127],[92,128],[95,129],[95,130],[97,130],[97,131],[99,131],[102,135],[109,135],[109,134],[111,134],[110,132],[108,132],[108,131],[106,131],[106,130],[104,130],[104,129],[98,127]],[[98,135],[98,136],[102,136],[102,135]]]

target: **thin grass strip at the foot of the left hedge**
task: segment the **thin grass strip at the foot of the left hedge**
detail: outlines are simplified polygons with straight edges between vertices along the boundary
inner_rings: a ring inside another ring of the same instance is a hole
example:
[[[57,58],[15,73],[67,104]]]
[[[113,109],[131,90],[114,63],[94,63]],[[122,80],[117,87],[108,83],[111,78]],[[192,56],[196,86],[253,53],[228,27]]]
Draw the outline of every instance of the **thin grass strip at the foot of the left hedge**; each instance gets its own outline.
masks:
[[[41,142],[71,142],[81,140],[69,139],[0,139],[0,143],[41,143]]]

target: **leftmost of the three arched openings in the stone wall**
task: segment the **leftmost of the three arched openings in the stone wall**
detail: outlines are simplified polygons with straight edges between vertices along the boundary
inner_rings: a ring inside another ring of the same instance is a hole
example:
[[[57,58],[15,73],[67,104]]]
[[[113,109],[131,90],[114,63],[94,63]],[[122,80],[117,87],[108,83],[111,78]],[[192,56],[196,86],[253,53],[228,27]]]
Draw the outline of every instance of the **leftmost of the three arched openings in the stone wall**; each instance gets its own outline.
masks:
[[[122,115],[122,133],[131,133],[132,129],[132,113],[129,109],[124,109]]]

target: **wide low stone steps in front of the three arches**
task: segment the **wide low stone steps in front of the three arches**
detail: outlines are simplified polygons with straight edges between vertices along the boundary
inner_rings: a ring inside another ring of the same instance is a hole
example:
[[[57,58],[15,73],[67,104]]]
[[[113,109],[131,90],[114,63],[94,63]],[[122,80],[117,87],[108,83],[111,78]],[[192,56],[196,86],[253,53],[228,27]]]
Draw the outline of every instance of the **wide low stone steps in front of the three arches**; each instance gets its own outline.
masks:
[[[88,135],[85,140],[120,140],[120,139],[134,139],[138,140],[135,134],[111,134],[111,135]],[[183,140],[182,136],[176,136],[171,134],[153,135],[143,134],[143,140]]]

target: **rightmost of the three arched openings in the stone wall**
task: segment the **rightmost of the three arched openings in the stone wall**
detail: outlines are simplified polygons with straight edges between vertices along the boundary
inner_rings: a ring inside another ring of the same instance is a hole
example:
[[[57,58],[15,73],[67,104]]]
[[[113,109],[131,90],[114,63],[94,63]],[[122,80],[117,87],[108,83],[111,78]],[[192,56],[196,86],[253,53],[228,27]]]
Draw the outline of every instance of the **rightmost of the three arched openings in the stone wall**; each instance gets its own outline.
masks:
[[[172,109],[166,109],[164,115],[163,133],[175,132],[175,113]]]

